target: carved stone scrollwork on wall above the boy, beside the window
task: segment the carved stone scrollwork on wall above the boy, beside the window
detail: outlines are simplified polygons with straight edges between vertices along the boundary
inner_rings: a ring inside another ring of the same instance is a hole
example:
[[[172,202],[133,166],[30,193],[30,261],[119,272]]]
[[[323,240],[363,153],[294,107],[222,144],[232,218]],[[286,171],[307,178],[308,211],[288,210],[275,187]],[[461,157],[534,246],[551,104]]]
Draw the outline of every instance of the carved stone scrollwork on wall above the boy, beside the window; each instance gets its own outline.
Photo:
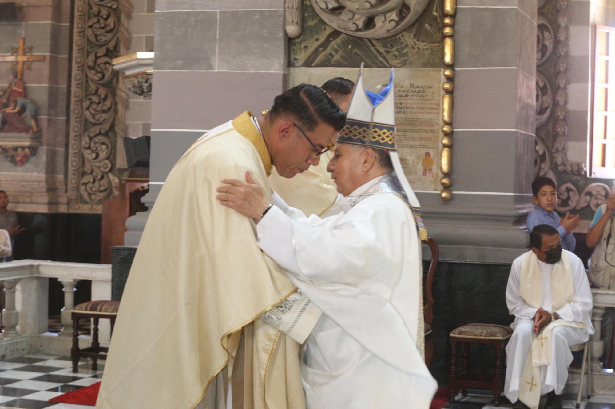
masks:
[[[588,178],[587,165],[568,158],[570,0],[541,0],[538,6],[534,172],[557,181],[555,209],[580,214],[575,232],[586,233],[612,182]]]

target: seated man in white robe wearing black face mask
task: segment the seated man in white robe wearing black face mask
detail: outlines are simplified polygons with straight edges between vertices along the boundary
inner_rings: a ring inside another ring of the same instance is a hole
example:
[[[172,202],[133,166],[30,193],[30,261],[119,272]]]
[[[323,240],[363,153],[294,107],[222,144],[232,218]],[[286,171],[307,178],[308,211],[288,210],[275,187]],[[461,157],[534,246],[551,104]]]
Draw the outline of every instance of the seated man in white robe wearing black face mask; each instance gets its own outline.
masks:
[[[561,409],[561,392],[573,360],[570,346],[593,333],[592,293],[581,259],[562,251],[554,227],[541,224],[530,233],[531,250],[512,263],[506,304],[515,321],[506,346],[504,394],[514,408]]]

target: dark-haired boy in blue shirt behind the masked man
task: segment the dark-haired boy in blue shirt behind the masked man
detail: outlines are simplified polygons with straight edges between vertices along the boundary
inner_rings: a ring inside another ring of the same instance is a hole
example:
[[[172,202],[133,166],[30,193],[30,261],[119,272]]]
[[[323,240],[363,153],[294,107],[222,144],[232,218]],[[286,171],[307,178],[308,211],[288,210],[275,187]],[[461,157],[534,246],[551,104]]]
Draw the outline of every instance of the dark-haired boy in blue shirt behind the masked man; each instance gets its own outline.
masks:
[[[532,194],[532,201],[536,206],[528,214],[528,233],[531,233],[534,227],[539,224],[548,224],[555,227],[560,233],[561,248],[574,251],[576,239],[572,231],[579,225],[581,217],[578,214],[572,216],[566,213],[566,216],[561,218],[554,211],[555,203],[557,203],[557,193],[555,193],[555,182],[550,177],[536,177],[532,182]]]

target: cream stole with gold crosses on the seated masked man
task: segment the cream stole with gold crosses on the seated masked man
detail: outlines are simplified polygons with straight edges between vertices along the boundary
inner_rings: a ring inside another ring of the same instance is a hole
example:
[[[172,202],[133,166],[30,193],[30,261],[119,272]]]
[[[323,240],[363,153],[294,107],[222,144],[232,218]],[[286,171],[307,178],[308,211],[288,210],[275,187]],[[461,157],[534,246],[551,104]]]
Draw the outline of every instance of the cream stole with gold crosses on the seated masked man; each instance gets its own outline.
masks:
[[[573,273],[571,271],[570,255],[563,251],[559,262],[555,263],[550,276],[550,295],[552,298],[552,309],[549,311],[559,311],[575,300],[575,290],[573,285]],[[576,257],[576,256],[574,256]],[[519,296],[527,305],[538,310],[544,303],[542,289],[542,271],[538,267],[538,257],[532,251],[523,255],[520,270]],[[589,287],[589,283],[587,284]],[[560,315],[562,315],[560,313]],[[567,315],[567,314],[563,314]],[[523,367],[523,373],[518,389],[518,399],[528,405],[531,409],[538,409],[541,397],[542,371],[541,367],[550,365],[552,362],[552,332],[558,326],[574,327],[585,329],[587,326],[584,321],[565,321],[557,319],[550,322],[542,329],[538,335],[533,335],[530,351]]]

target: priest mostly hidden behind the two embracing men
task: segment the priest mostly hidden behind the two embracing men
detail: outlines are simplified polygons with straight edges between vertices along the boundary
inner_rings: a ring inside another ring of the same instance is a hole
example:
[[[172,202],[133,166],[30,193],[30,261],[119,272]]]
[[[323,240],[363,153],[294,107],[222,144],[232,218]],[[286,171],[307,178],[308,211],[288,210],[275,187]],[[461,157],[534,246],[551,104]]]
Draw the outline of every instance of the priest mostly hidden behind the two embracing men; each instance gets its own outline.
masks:
[[[336,77],[325,82],[320,88],[333,99],[333,102],[342,111],[348,110],[354,82],[346,78]],[[331,179],[331,174],[327,171],[329,160],[333,157],[333,141],[330,149],[330,152],[325,152],[320,157],[318,165],[310,166],[308,170],[292,179],[280,176],[274,166],[271,176],[269,176],[271,189],[280,195],[288,206],[300,209],[306,216],[312,214],[332,216],[343,211],[346,200],[338,193],[338,189]]]

